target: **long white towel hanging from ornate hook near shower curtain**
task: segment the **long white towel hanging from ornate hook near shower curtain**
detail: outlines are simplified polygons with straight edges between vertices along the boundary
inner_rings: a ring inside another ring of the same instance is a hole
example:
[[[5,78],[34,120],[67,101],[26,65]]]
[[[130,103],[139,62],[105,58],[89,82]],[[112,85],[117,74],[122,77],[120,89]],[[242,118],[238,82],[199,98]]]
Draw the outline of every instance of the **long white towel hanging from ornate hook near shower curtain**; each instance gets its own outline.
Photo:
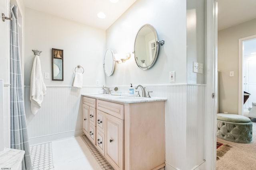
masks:
[[[46,86],[42,76],[41,62],[39,56],[36,55],[30,76],[30,109],[34,115],[41,108],[45,94]]]

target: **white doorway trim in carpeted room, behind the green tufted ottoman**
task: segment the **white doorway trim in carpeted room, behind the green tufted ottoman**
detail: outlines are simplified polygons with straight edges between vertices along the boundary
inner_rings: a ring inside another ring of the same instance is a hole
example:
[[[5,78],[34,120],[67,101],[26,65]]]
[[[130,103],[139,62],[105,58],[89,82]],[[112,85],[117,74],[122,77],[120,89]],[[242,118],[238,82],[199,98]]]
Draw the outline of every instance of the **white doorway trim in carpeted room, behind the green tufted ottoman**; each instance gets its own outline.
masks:
[[[256,35],[238,39],[238,114],[244,114],[244,92],[243,92],[243,41],[254,39]],[[242,100],[240,100],[242,99]]]

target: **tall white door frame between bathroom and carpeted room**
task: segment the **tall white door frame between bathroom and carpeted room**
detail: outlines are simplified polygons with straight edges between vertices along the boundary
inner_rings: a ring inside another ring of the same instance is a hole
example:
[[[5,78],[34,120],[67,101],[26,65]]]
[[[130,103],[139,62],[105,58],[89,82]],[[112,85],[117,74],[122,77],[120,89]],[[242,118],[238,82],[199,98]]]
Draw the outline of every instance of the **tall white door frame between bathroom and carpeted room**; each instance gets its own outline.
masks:
[[[205,160],[206,169],[216,169],[217,117],[217,38],[218,0],[206,0],[206,93],[205,93]],[[212,93],[215,98],[212,99]]]

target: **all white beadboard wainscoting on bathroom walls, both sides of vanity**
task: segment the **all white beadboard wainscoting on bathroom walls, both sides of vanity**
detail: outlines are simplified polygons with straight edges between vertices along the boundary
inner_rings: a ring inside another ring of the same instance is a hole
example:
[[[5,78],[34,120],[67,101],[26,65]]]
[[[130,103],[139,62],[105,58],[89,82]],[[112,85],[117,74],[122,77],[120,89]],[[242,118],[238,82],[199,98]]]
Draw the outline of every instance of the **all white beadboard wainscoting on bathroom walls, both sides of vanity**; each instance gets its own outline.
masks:
[[[167,98],[166,169],[190,170],[204,163],[205,85],[145,85],[152,97]],[[97,93],[101,87],[47,87],[42,108],[30,112],[29,86],[25,88],[26,116],[30,145],[82,134],[81,94]],[[114,89],[114,86],[110,86]],[[128,92],[129,86],[118,86]],[[141,93],[140,93],[141,94]],[[197,168],[198,169],[198,168]]]

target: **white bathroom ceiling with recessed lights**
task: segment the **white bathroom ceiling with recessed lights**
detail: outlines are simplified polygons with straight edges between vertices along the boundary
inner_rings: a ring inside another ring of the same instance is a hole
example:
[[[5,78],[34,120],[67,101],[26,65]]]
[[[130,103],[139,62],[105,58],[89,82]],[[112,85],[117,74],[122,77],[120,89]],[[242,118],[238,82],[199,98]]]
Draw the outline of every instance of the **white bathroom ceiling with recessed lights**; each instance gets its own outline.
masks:
[[[106,30],[136,0],[24,0],[28,8],[84,23],[92,27]],[[105,19],[97,17],[98,12],[106,14]]]

